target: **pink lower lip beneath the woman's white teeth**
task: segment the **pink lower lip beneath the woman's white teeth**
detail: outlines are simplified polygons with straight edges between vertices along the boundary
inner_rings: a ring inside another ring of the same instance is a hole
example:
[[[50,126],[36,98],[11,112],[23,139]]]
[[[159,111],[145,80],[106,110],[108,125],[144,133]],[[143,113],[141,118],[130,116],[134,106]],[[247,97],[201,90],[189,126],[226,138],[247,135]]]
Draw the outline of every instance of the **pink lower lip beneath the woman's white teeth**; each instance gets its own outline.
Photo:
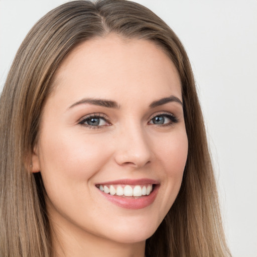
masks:
[[[100,190],[98,190],[106,199],[115,205],[126,208],[126,209],[132,209],[132,210],[138,210],[138,209],[143,209],[151,205],[158,193],[159,186],[155,185],[154,190],[151,192],[150,195],[142,196],[139,198],[134,198],[134,197],[122,197],[122,196],[117,196],[117,195],[110,195],[106,194]]]

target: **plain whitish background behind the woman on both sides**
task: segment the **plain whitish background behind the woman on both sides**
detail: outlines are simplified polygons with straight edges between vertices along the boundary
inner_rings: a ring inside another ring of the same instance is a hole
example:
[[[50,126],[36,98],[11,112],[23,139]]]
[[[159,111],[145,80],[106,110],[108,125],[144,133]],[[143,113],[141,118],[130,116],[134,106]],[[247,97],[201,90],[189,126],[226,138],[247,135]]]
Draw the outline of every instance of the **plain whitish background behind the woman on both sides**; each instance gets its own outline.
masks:
[[[35,22],[63,0],[0,0],[0,90]],[[234,257],[257,257],[257,1],[145,0],[183,42]]]

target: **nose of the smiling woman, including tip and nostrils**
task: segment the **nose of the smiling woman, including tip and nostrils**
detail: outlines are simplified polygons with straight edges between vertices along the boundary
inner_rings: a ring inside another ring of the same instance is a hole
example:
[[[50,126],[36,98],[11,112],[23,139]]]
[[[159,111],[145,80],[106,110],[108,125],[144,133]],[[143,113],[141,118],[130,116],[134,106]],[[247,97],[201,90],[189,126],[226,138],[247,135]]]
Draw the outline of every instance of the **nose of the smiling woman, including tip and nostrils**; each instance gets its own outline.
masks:
[[[151,162],[151,142],[140,125],[126,127],[115,141],[114,158],[118,165],[141,168]]]

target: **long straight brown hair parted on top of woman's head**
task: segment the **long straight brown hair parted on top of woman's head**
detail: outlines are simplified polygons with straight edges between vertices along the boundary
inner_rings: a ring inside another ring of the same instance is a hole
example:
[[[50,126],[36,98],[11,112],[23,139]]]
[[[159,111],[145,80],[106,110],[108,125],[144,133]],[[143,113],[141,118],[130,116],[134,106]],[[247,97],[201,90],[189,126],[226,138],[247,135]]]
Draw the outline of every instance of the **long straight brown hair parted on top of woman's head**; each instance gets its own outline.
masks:
[[[109,33],[162,47],[182,83],[189,142],[180,192],[146,242],[159,257],[230,256],[222,229],[204,122],[187,54],[175,33],[147,8],[127,1],[74,1],[45,15],[19,48],[0,99],[0,256],[53,254],[40,173],[30,172],[42,107],[64,57]]]

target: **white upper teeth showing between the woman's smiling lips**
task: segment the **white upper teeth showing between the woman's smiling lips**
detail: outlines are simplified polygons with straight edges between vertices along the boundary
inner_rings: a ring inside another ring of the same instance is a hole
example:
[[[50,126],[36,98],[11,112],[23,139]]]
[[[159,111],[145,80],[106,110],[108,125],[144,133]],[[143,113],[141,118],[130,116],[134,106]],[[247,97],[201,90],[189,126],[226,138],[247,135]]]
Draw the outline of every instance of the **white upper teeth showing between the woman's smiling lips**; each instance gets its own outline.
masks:
[[[155,188],[155,184],[145,185],[96,185],[105,194],[121,197],[143,197],[148,196]]]

